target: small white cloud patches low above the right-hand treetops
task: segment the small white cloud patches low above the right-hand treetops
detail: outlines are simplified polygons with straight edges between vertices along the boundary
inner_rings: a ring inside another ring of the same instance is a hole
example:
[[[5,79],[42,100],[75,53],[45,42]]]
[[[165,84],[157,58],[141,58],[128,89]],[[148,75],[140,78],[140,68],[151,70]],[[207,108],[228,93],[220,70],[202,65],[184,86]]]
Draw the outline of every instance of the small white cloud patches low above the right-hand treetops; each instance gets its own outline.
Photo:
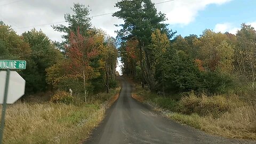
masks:
[[[246,25],[251,25],[252,27],[254,27],[256,29],[256,21],[255,22],[247,22],[245,23]],[[236,34],[238,30],[240,30],[241,27],[237,27],[235,26],[233,23],[217,23],[217,25],[215,25],[214,31],[215,32],[221,32],[221,33],[225,33],[228,32],[230,34]]]

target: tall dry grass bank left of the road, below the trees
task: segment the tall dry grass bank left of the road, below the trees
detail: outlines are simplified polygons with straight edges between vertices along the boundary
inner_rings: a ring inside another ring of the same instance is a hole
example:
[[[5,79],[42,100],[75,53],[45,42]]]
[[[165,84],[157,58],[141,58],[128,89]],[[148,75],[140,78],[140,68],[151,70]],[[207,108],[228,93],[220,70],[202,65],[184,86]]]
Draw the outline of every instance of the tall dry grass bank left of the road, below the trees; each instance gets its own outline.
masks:
[[[95,103],[16,103],[6,112],[3,143],[80,143],[104,117],[119,88]],[[103,100],[108,102],[102,103]]]

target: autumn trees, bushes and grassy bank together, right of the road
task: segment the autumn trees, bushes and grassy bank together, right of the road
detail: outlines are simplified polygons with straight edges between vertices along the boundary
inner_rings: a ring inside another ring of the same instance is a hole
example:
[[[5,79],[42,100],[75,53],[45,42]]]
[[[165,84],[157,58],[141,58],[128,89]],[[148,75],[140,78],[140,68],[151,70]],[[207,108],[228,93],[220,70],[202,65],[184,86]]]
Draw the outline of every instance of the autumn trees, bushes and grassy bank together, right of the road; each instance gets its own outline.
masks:
[[[113,16],[124,20],[117,31],[123,74],[137,82],[133,98],[206,132],[256,138],[252,26],[242,23],[236,35],[205,29],[182,37],[149,0],[116,7]]]

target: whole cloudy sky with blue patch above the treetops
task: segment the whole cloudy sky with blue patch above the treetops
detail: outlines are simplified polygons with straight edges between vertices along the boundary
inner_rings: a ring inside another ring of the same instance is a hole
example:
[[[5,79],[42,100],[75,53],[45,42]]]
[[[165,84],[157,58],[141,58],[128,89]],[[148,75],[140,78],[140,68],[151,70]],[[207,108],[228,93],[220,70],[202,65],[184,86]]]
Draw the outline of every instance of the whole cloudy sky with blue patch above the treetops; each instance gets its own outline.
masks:
[[[118,0],[120,1],[120,0]],[[62,41],[61,33],[54,31],[52,23],[65,25],[64,14],[72,13],[73,3],[90,6],[92,25],[115,37],[115,24],[123,20],[111,17],[118,11],[117,0],[0,0],[0,20],[22,34],[31,28],[42,30],[53,41]],[[205,29],[236,34],[242,23],[256,28],[255,0],[152,0],[156,9],[166,14],[165,23],[177,35],[201,35]],[[163,2],[163,3],[162,3]],[[157,4],[159,3],[159,4]],[[106,15],[101,15],[106,14]],[[101,15],[96,16],[95,15]],[[119,63],[118,65],[121,65]],[[120,68],[118,67],[118,70]]]

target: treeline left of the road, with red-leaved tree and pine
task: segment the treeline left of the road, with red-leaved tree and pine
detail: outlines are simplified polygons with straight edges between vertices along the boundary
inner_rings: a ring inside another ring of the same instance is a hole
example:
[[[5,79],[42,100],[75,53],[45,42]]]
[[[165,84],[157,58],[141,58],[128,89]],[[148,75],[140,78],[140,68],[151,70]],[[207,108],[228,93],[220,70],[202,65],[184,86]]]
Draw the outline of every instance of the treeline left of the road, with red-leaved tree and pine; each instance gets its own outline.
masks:
[[[71,10],[74,14],[65,14],[67,27],[52,26],[65,33],[61,43],[35,29],[17,35],[1,22],[0,59],[27,61],[27,69],[18,71],[27,95],[54,90],[52,101],[69,102],[71,89],[87,102],[88,96],[117,86],[115,38],[91,25],[88,7],[77,3]]]

